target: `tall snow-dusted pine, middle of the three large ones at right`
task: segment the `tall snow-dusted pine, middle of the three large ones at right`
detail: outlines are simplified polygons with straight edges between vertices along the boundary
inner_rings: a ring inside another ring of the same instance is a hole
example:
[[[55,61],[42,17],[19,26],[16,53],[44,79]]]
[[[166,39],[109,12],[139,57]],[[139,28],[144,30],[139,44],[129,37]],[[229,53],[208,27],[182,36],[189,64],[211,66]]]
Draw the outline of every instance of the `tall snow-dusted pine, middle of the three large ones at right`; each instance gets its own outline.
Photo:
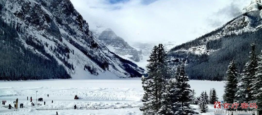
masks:
[[[255,44],[251,45],[251,52],[249,59],[250,61],[246,63],[245,69],[243,70],[242,78],[240,80],[240,84],[237,86],[238,90],[236,93],[235,102],[243,103],[243,102],[250,102],[253,100],[252,98],[252,81],[256,72],[257,67],[257,56],[256,56],[256,46]],[[253,83],[254,84],[254,83]]]

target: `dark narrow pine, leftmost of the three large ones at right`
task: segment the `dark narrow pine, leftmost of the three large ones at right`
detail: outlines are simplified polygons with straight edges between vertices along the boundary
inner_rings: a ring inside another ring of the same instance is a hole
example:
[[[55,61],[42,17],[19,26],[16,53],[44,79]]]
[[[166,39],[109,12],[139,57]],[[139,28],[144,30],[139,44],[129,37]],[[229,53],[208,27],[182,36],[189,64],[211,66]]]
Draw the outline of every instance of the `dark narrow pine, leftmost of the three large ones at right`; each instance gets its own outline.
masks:
[[[226,103],[234,103],[234,99],[235,99],[235,94],[237,92],[237,84],[238,84],[238,80],[237,80],[237,67],[235,64],[235,61],[231,61],[228,65],[228,70],[226,72],[227,76],[226,76],[226,85],[224,86],[224,95],[223,95],[223,99],[224,102]],[[233,109],[229,109],[229,110],[233,110]]]

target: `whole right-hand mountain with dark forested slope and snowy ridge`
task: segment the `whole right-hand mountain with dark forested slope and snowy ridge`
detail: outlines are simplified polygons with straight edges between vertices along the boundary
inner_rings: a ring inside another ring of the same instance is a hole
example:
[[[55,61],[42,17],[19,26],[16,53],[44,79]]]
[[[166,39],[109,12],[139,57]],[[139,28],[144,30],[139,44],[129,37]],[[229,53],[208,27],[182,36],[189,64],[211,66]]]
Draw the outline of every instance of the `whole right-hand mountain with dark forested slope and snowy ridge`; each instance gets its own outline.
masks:
[[[169,52],[170,65],[183,61],[191,79],[222,80],[227,65],[237,61],[242,72],[248,60],[250,44],[261,50],[262,3],[252,1],[243,13],[214,31],[195,40],[173,47]]]

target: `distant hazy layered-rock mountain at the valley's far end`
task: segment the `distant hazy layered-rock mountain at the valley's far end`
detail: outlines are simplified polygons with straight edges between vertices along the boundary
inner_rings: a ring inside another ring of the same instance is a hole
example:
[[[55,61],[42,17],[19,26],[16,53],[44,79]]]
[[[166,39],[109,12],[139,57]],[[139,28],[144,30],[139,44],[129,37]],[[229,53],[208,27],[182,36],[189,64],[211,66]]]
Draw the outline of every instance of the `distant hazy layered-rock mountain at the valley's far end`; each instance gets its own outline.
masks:
[[[112,29],[105,26],[96,26],[96,28],[90,30],[96,39],[100,40],[111,52],[116,53],[118,56],[135,62],[143,59],[141,50],[131,47],[123,38],[117,36]]]

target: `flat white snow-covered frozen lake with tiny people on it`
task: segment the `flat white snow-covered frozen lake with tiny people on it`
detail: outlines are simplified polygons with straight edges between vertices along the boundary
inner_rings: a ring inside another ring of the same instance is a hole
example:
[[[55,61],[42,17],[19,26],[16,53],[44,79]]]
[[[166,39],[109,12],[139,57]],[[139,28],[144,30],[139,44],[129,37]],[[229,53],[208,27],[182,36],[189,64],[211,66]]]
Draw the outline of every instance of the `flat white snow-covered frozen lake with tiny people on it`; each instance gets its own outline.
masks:
[[[209,92],[210,88],[217,90],[217,95],[221,99],[223,95],[224,83],[220,81],[200,81],[190,80],[189,84],[195,89],[196,96],[199,96],[203,90]],[[42,97],[42,102],[36,102],[37,98]],[[49,97],[47,97],[49,94]],[[74,100],[78,95],[79,100]],[[29,100],[26,100],[26,97]],[[42,104],[42,106],[31,107],[30,97],[33,102]],[[9,110],[0,106],[0,114],[142,114],[139,107],[143,106],[140,101],[143,96],[143,89],[140,78],[127,78],[121,80],[31,80],[31,81],[0,81],[0,101],[6,100],[8,104],[14,106],[13,101],[18,98],[18,103],[23,103],[28,108],[18,109],[18,111]],[[53,103],[51,101],[53,100]],[[46,105],[43,105],[43,102]],[[78,110],[73,109],[77,105]],[[192,105],[198,109],[197,105]],[[133,108],[122,108],[133,107]],[[212,105],[209,113],[212,114]],[[107,109],[83,109],[81,108],[107,108]],[[121,108],[121,109],[108,109]],[[36,109],[67,109],[67,110],[36,110]],[[198,111],[198,110],[196,110]]]

